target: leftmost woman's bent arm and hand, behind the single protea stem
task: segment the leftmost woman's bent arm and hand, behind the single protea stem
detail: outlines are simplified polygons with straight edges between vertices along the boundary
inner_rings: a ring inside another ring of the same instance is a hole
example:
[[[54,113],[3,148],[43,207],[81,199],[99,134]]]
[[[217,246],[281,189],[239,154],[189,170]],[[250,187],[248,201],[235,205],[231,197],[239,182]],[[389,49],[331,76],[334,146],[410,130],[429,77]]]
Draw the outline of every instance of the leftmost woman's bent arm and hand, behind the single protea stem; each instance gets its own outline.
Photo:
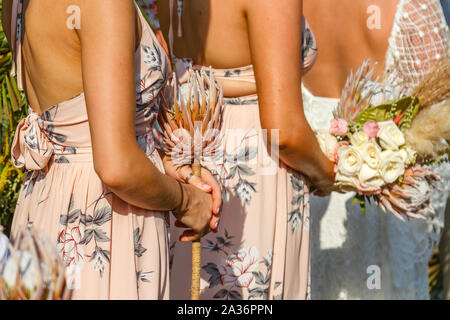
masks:
[[[204,233],[211,219],[211,196],[189,185],[182,185],[181,192],[179,183],[162,174],[136,141],[133,1],[79,3],[82,18],[77,32],[96,172],[126,202],[149,210],[178,207],[177,218],[197,235]]]

